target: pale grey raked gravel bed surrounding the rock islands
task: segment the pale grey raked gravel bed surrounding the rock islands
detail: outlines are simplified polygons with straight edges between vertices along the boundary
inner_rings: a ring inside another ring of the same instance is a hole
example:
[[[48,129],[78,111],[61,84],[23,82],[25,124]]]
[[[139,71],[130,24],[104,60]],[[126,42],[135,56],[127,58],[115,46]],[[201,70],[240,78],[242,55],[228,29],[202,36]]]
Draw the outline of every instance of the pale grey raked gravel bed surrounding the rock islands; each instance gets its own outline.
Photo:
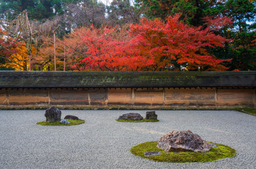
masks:
[[[120,123],[124,113],[62,111],[82,125],[42,126],[45,111],[0,111],[0,168],[256,168],[256,117],[238,111],[156,111],[157,123]],[[191,130],[226,144],[234,158],[208,163],[161,163],[134,156],[132,146],[157,141],[170,130]]]

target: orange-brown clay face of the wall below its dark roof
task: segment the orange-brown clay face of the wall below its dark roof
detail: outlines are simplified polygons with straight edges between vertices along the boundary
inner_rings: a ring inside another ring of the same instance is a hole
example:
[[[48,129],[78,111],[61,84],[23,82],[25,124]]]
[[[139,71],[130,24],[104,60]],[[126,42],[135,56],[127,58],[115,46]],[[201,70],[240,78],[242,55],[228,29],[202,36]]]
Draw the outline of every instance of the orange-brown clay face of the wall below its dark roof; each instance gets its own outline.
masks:
[[[0,106],[256,107],[256,89],[23,88],[0,89]]]

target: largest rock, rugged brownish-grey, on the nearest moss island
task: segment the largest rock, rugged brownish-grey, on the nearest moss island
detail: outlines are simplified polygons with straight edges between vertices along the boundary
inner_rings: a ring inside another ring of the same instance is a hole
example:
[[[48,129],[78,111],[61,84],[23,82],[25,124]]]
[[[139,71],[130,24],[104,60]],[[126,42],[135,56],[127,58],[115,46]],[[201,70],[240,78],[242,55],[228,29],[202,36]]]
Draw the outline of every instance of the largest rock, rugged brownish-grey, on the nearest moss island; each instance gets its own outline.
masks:
[[[159,139],[157,147],[165,152],[175,149],[178,151],[206,152],[212,148],[198,134],[193,134],[190,130],[168,132]]]

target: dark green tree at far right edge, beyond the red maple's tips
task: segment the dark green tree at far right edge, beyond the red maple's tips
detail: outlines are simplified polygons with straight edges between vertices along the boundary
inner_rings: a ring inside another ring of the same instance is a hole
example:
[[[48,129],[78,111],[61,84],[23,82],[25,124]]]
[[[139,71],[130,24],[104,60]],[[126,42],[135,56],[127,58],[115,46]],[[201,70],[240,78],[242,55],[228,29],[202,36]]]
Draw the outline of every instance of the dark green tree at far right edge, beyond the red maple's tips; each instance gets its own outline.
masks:
[[[233,39],[224,48],[216,50],[218,58],[232,58],[230,70],[256,70],[256,3],[250,0],[228,0],[222,4],[220,13],[233,19],[233,28],[225,27],[219,32]]]

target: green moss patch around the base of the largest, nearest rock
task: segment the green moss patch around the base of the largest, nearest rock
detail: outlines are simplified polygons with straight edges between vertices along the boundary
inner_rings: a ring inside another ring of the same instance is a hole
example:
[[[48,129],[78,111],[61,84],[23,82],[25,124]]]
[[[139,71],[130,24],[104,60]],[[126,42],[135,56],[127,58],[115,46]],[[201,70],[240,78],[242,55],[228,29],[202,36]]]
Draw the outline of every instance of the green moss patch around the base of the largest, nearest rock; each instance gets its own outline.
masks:
[[[213,147],[206,153],[195,153],[191,151],[187,152],[170,152],[165,153],[162,149],[156,147],[158,142],[144,142],[133,146],[131,149],[132,154],[140,156],[142,158],[148,158],[153,161],[161,161],[168,163],[205,163],[209,161],[216,161],[222,158],[231,158],[236,154],[235,149],[223,144],[216,144],[208,142],[209,144],[215,144],[217,147]],[[145,151],[161,151],[159,156],[144,156]]]

